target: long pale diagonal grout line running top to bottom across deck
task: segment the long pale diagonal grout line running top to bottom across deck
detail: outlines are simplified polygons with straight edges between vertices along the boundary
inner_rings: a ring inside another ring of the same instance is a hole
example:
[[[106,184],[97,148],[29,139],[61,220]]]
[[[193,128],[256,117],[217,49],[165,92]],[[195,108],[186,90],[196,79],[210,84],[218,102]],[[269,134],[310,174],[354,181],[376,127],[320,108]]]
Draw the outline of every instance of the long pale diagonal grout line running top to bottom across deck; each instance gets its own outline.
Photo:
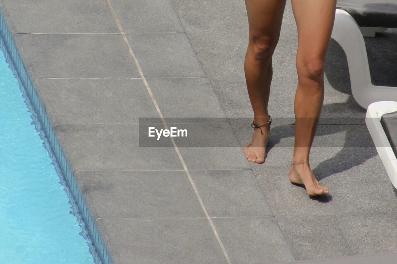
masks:
[[[112,12],[112,15],[113,15],[113,17],[114,17],[114,19],[115,19],[115,21],[116,21],[116,23],[117,23],[117,26],[118,26],[118,28],[119,28],[121,34],[123,35],[123,39],[124,39],[125,43],[127,44],[127,47],[129,48],[129,52],[130,52],[130,54],[131,54],[131,57],[133,58],[133,60],[134,60],[134,62],[135,62],[135,65],[136,65],[137,68],[138,68],[139,74],[141,75],[143,82],[145,83],[145,86],[146,86],[146,89],[147,89],[147,91],[148,91],[148,93],[149,93],[149,95],[150,95],[150,98],[152,98],[152,101],[153,101],[153,103],[154,103],[154,106],[156,107],[156,110],[157,110],[157,112],[158,112],[158,115],[159,115],[160,118],[162,119],[164,126],[168,129],[168,125],[166,124],[166,121],[164,120],[164,117],[163,117],[163,115],[162,115],[162,113],[161,113],[161,111],[160,111],[160,107],[158,106],[158,103],[157,103],[156,99],[154,98],[154,95],[153,95],[153,93],[152,93],[152,90],[150,89],[150,87],[149,87],[149,85],[148,85],[148,83],[147,83],[147,81],[146,81],[146,78],[145,78],[145,76],[143,75],[142,69],[141,69],[141,67],[140,67],[140,65],[139,65],[139,63],[138,63],[138,61],[137,61],[137,58],[135,57],[135,54],[133,53],[133,50],[132,50],[132,48],[131,48],[131,45],[129,44],[129,42],[128,42],[128,40],[127,40],[127,37],[125,36],[125,33],[123,32],[123,29],[121,28],[120,21],[119,21],[117,15],[116,15],[116,12],[114,11],[114,9],[113,9],[113,7],[112,7],[112,4],[110,4],[110,0],[106,0],[106,2],[107,2],[108,6],[109,6],[109,8],[110,8],[110,11]],[[191,185],[192,185],[192,187],[193,187],[193,189],[194,189],[194,191],[195,191],[195,193],[196,193],[197,199],[198,199],[198,201],[199,201],[199,203],[200,203],[200,205],[201,205],[201,207],[202,207],[202,210],[204,211],[204,213],[205,213],[205,215],[206,215],[206,218],[207,218],[207,220],[208,220],[208,222],[209,222],[209,224],[210,224],[210,226],[211,226],[211,228],[212,228],[212,231],[214,232],[214,235],[215,235],[216,239],[218,240],[218,243],[219,243],[219,245],[220,245],[220,247],[221,247],[221,249],[222,249],[222,252],[224,253],[224,256],[225,256],[225,258],[226,258],[226,260],[227,260],[227,263],[228,263],[228,264],[231,264],[230,259],[229,259],[229,256],[227,255],[227,252],[226,252],[226,250],[225,250],[225,247],[224,247],[224,245],[223,245],[223,243],[222,243],[222,241],[221,241],[221,239],[220,239],[220,237],[219,237],[219,235],[218,235],[218,231],[216,231],[216,228],[215,228],[215,226],[214,226],[214,223],[212,222],[210,216],[208,215],[208,212],[207,212],[207,210],[206,210],[206,208],[205,208],[205,206],[204,206],[204,203],[202,202],[202,199],[201,199],[201,197],[200,197],[200,195],[199,195],[199,193],[198,193],[198,190],[197,190],[197,188],[196,188],[196,186],[195,186],[195,184],[194,184],[194,182],[193,182],[193,179],[192,179],[192,177],[191,177],[191,175],[190,175],[190,172],[189,172],[189,170],[187,169],[185,160],[183,159],[183,157],[182,157],[182,155],[181,155],[181,153],[180,153],[180,151],[179,151],[179,149],[178,149],[178,147],[177,147],[175,141],[173,140],[173,138],[170,138],[170,139],[171,139],[172,144],[173,144],[173,146],[174,146],[174,149],[175,149],[175,151],[176,151],[176,153],[177,153],[177,155],[178,155],[178,157],[179,157],[179,161],[181,162],[181,164],[182,164],[182,166],[183,166],[183,169],[185,170],[185,173],[186,173],[187,177],[189,178],[189,181],[190,181],[190,183],[191,183]]]

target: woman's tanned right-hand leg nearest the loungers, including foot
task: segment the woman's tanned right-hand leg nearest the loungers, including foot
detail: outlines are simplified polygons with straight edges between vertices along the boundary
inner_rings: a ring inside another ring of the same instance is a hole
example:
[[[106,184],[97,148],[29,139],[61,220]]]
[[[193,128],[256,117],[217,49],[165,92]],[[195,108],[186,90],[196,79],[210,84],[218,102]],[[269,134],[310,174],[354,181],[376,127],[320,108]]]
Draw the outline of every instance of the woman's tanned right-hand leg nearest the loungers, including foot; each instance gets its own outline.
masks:
[[[308,162],[324,101],[324,61],[335,18],[336,0],[291,0],[298,28],[293,161]],[[304,184],[309,195],[329,193],[306,163],[292,165],[291,182]]]

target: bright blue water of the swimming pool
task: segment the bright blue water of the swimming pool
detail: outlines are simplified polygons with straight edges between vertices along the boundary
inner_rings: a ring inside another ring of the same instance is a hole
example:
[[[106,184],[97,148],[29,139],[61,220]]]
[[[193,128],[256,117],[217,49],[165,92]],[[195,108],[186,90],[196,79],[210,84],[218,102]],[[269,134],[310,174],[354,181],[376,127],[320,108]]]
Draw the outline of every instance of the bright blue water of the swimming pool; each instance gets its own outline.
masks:
[[[0,50],[0,263],[94,263],[74,211]]]

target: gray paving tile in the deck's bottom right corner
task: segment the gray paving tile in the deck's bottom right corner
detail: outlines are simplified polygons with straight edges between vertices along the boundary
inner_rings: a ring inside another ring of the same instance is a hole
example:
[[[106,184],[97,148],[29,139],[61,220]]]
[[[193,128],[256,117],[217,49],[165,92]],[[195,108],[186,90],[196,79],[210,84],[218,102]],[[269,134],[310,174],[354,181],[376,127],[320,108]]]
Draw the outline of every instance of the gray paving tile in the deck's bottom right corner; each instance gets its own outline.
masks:
[[[387,214],[338,216],[343,234],[358,255],[395,253],[397,219],[395,210]]]

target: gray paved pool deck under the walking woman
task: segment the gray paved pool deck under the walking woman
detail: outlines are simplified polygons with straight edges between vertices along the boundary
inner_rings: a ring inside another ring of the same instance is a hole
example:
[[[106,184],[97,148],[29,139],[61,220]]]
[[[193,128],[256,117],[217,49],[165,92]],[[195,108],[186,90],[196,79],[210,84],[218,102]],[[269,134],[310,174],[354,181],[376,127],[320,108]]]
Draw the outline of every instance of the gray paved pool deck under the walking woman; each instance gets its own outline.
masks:
[[[289,2],[273,60],[269,111],[277,122],[262,165],[237,146],[253,132],[243,0],[0,3],[114,263],[293,262],[397,251],[397,192],[333,40],[322,111],[333,119],[320,124],[311,153],[331,194],[309,199],[288,181],[297,84]],[[396,43],[391,30],[366,39],[375,84],[397,86]],[[227,124],[234,147],[139,147],[140,117],[248,121]],[[327,261],[318,263],[347,260]]]

